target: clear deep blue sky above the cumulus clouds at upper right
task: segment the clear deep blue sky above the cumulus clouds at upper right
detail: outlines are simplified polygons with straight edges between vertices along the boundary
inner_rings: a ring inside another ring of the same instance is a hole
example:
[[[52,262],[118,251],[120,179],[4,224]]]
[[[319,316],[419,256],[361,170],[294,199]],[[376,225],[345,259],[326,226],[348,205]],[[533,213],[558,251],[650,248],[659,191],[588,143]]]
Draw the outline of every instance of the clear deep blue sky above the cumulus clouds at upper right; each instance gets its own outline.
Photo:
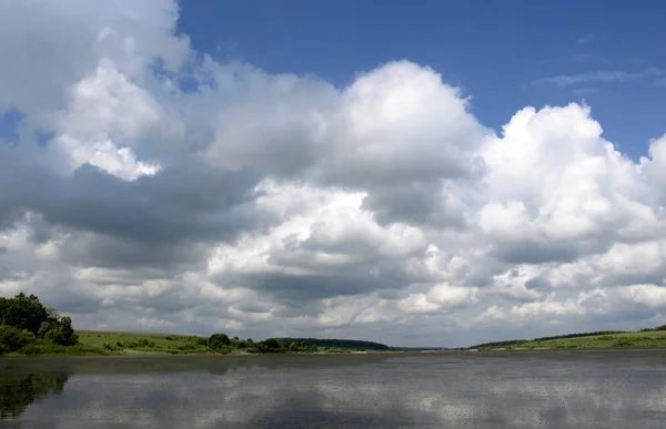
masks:
[[[340,86],[396,59],[430,65],[494,129],[526,105],[585,99],[637,160],[666,132],[665,16],[660,1],[185,0],[178,25],[219,60]]]

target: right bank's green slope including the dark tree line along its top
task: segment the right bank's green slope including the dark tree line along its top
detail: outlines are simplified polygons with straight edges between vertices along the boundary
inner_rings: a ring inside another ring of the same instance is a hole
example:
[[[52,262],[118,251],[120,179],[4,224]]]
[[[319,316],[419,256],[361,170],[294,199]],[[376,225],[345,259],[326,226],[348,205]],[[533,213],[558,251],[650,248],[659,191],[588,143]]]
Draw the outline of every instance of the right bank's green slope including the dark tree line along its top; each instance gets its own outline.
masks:
[[[645,328],[639,331],[602,330],[541,337],[534,339],[511,339],[483,343],[470,347],[476,350],[549,350],[591,348],[666,347],[666,325]]]

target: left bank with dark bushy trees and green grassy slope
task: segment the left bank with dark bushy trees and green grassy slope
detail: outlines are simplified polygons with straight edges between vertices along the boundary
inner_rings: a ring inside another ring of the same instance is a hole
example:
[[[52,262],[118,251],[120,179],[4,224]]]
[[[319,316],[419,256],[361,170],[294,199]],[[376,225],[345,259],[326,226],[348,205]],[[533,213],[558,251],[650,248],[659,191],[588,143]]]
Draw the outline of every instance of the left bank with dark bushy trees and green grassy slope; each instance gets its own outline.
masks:
[[[0,298],[0,355],[251,355],[386,351],[372,341],[316,338],[269,338],[253,341],[213,334],[74,331],[72,320],[44,307],[36,295]]]

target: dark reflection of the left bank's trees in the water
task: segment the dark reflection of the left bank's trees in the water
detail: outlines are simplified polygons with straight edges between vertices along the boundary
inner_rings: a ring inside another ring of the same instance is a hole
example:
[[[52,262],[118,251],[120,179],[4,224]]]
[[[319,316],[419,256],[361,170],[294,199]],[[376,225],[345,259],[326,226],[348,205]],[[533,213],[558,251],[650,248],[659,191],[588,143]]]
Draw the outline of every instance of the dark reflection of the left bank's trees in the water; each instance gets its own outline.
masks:
[[[18,417],[36,400],[60,395],[65,372],[3,374],[0,376],[0,419]]]

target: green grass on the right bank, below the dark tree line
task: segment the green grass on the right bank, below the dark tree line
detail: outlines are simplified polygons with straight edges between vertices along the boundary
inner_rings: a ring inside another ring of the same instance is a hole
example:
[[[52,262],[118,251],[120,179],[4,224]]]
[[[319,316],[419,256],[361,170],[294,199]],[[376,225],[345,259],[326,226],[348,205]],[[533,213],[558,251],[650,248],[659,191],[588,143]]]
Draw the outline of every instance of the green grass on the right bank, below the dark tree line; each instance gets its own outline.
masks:
[[[541,341],[507,344],[501,347],[481,348],[481,350],[537,350],[537,349],[595,349],[595,348],[632,348],[666,347],[666,331],[638,331],[589,337],[559,338]]]

